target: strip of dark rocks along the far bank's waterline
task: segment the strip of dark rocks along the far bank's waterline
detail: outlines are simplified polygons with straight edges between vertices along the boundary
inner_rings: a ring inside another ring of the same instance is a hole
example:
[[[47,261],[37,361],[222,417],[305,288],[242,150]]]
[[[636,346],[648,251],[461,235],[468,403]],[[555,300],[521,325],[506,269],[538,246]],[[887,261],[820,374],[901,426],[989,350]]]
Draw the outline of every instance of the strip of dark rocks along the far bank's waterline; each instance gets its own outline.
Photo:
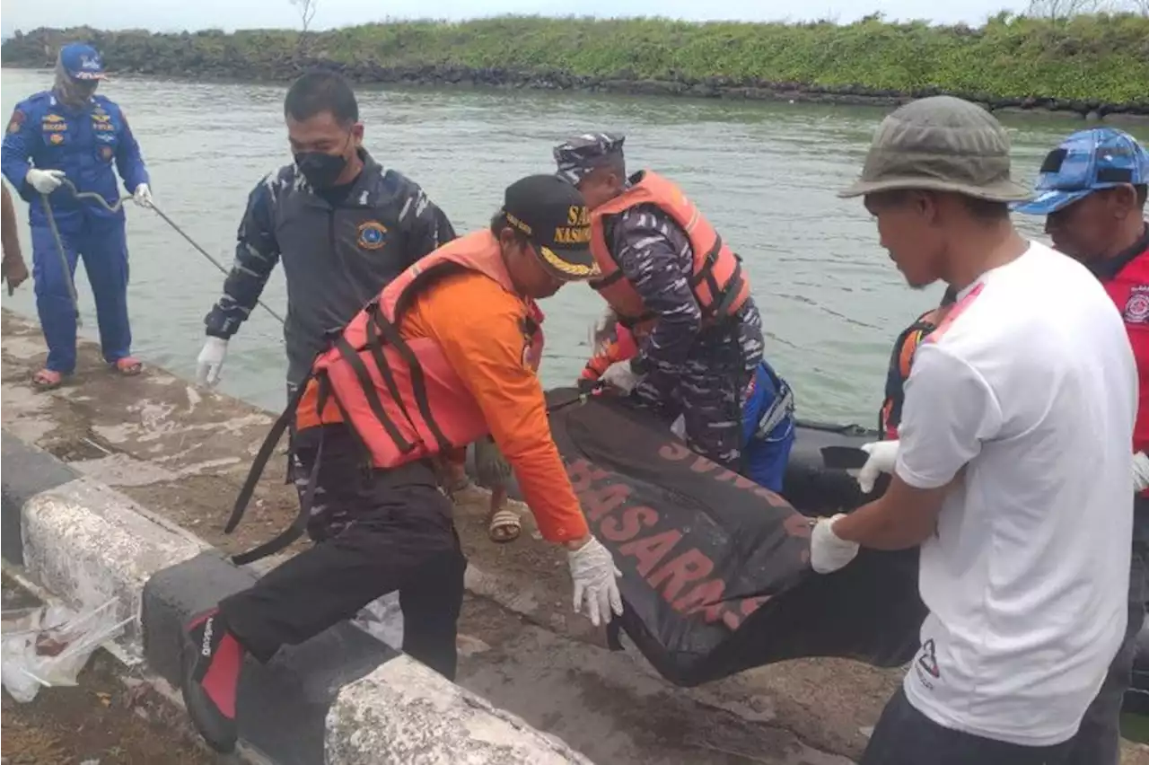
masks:
[[[622,95],[656,95],[700,99],[731,99],[749,101],[788,101],[792,103],[824,103],[834,106],[897,107],[913,99],[940,95],[941,88],[921,88],[913,92],[874,90],[861,85],[822,86],[804,83],[778,83],[756,79],[708,77],[692,79],[640,79],[632,72],[618,72],[610,77],[586,77],[569,72],[519,71],[499,67],[472,68],[462,65],[421,64],[411,67],[385,67],[375,62],[344,63],[322,57],[279,57],[252,61],[226,53],[217,60],[196,56],[188,61],[183,57],[153,59],[146,62],[130,62],[109,57],[109,67],[118,75],[171,77],[216,82],[290,82],[310,69],[329,69],[341,72],[355,83],[375,85],[401,85],[409,87],[492,87],[503,90],[574,91],[586,93],[612,93]],[[8,62],[7,65],[13,65]],[[40,68],[45,62],[21,61],[17,67]],[[1078,101],[1055,98],[998,98],[985,93],[958,93],[951,95],[974,101],[990,111],[1005,114],[1063,115],[1088,122],[1101,121],[1149,121],[1149,101],[1112,105],[1101,101]]]

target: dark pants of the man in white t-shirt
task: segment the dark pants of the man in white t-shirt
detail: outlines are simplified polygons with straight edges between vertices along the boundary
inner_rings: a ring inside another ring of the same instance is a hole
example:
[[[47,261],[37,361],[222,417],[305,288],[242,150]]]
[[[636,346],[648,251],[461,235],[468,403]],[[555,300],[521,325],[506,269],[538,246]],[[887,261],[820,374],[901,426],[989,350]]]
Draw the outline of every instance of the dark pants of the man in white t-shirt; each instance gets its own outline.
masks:
[[[1020,747],[942,727],[899,688],[858,765],[1064,765],[1067,750],[1069,742]]]

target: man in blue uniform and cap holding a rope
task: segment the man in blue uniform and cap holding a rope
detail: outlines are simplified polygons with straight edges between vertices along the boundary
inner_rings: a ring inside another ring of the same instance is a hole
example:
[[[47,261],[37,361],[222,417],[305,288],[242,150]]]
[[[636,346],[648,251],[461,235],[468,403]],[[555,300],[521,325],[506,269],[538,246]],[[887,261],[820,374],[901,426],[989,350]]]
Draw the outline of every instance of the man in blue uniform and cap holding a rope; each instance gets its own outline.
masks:
[[[54,388],[76,369],[76,306],[71,279],[84,258],[95,296],[103,358],[121,374],[142,366],[131,355],[128,322],[128,244],[122,209],[109,211],[75,192],[119,200],[116,171],[137,203],[152,201],[139,145],[123,110],[95,88],[105,78],[103,60],[88,45],[70,44],[56,60],[55,84],[16,105],[0,146],[0,172],[29,203],[36,308],[48,343],[48,360],[33,377]],[[52,231],[53,221],[64,254]],[[64,270],[64,262],[68,270]]]

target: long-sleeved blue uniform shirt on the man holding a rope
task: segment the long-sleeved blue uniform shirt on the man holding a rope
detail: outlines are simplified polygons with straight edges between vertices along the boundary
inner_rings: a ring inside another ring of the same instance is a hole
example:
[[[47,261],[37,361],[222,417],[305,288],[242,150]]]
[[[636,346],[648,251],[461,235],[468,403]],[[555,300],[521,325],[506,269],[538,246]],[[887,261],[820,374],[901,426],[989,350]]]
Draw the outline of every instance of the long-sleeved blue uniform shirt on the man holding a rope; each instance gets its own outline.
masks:
[[[115,168],[113,167],[115,165]],[[63,170],[80,192],[95,192],[114,203],[119,199],[116,170],[129,193],[148,183],[139,144],[123,110],[103,95],[83,107],[61,103],[51,91],[16,105],[0,146],[0,172],[29,203],[31,225],[44,224],[40,195],[24,181],[30,168]],[[78,224],[85,215],[123,217],[99,204],[77,202],[64,186],[52,193],[52,210],[61,226]]]

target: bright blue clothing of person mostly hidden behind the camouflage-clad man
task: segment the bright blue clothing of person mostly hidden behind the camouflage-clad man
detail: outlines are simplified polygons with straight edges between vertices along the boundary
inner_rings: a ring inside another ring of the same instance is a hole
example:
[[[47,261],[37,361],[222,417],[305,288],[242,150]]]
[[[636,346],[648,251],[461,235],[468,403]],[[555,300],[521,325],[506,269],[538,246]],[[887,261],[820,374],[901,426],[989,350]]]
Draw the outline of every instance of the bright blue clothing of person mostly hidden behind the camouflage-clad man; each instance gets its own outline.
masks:
[[[743,474],[781,494],[794,446],[794,395],[786,380],[764,361],[742,404],[742,442]]]

